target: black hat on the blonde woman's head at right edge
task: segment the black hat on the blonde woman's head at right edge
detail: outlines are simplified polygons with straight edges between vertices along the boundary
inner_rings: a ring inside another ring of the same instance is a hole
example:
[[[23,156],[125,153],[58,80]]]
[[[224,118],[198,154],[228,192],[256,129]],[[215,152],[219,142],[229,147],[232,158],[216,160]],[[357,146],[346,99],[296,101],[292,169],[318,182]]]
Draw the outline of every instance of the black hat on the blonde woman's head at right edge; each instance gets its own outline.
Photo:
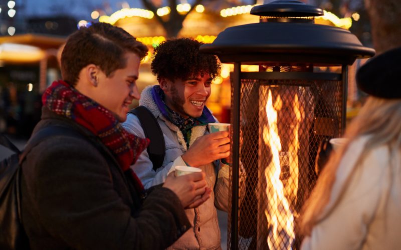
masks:
[[[356,82],[360,90],[370,95],[401,98],[401,47],[369,59],[356,73]]]

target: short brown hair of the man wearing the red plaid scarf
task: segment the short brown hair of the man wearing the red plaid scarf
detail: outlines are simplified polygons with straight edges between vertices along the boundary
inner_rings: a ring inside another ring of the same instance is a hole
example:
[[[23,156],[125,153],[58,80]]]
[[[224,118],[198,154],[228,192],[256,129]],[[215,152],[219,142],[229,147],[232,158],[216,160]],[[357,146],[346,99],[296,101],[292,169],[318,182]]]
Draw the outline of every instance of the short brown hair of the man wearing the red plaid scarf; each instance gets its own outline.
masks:
[[[109,76],[126,66],[126,52],[133,52],[142,59],[148,48],[120,27],[109,23],[93,23],[81,27],[68,37],[61,54],[63,80],[75,86],[82,68],[95,64]]]

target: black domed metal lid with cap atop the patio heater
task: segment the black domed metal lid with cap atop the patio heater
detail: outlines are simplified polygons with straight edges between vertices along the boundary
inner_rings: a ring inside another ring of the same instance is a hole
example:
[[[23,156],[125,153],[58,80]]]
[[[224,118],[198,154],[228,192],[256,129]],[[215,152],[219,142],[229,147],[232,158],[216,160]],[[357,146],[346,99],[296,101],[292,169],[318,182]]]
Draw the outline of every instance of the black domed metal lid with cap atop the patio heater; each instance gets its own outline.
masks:
[[[321,9],[320,9],[321,10]],[[279,0],[255,6],[261,22],[226,28],[200,51],[216,54],[224,63],[352,64],[374,55],[350,31],[303,21],[320,15],[319,8],[297,0]],[[266,16],[265,16],[266,15]],[[297,18],[301,17],[301,18]]]

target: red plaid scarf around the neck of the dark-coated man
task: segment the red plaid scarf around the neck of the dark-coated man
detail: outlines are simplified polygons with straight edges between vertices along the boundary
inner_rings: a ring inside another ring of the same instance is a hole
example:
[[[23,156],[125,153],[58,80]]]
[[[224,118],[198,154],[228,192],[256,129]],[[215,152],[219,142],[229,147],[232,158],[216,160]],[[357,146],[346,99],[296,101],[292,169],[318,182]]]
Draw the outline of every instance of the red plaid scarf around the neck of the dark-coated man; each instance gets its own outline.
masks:
[[[123,171],[130,171],[136,188],[143,190],[142,182],[129,167],[149,144],[127,132],[105,107],[81,94],[68,83],[54,81],[42,96],[44,106],[89,129],[110,149]]]

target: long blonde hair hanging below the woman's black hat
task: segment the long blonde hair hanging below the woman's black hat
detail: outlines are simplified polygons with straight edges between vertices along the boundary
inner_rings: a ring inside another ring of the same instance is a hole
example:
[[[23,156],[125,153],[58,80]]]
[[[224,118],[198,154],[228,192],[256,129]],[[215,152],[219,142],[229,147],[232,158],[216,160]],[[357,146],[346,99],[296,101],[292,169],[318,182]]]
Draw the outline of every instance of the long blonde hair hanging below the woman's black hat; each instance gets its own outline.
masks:
[[[401,148],[401,99],[382,99],[371,96],[367,98],[358,115],[346,129],[344,137],[349,138],[349,144],[355,138],[368,134],[370,137],[356,162],[360,162],[366,153],[378,145],[387,145],[390,148],[390,157],[394,153],[399,153]],[[337,200],[333,202],[331,207],[326,208],[330,200],[338,165],[348,148],[348,144],[338,152],[331,154],[309,199],[302,208],[300,232],[304,235],[310,235],[312,227],[330,214],[348,185],[349,178],[341,187]],[[358,163],[355,163],[352,166],[350,175],[357,165]]]

